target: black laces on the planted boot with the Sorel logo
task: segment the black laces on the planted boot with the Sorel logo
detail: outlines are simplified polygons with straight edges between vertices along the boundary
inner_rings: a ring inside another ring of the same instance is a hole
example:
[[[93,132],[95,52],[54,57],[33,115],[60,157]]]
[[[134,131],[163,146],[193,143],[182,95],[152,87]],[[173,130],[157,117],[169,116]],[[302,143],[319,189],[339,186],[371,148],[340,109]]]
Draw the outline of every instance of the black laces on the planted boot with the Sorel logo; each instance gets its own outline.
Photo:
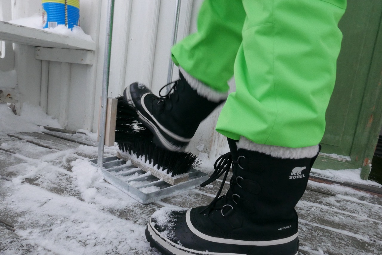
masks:
[[[240,196],[238,194],[231,194],[230,195],[230,193],[232,193],[232,192],[228,191],[226,195],[220,196],[220,194],[221,194],[221,192],[223,190],[223,186],[225,184],[225,181],[227,180],[228,172],[229,172],[232,164],[233,165],[238,164],[238,161],[237,160],[232,160],[231,152],[223,154],[222,156],[220,156],[215,161],[215,164],[214,164],[215,171],[214,171],[214,173],[212,173],[212,175],[210,176],[210,178],[207,181],[205,181],[204,183],[200,184],[200,186],[204,187],[204,186],[212,183],[217,178],[222,176],[223,173],[225,173],[225,175],[223,177],[222,184],[220,185],[219,191],[217,192],[217,195],[215,196],[214,200],[212,200],[212,202],[206,208],[204,208],[200,213],[203,213],[203,212],[205,212],[207,210],[208,210],[208,212],[210,212],[211,210],[214,210],[214,209],[222,209],[222,215],[224,216],[224,214],[223,214],[223,208],[224,207],[229,206],[229,207],[231,207],[233,209],[232,205],[230,205],[230,204],[225,204],[222,208],[215,208],[215,205],[216,205],[217,201],[220,200],[220,199],[225,199],[227,202],[228,202],[228,200],[232,200],[235,204],[237,204],[237,202],[235,201],[234,197],[236,196],[236,197],[240,198]],[[230,190],[231,190],[232,186],[237,183],[237,179],[238,178],[236,178],[235,180],[231,180],[230,181]],[[243,178],[241,178],[241,179],[243,179]]]

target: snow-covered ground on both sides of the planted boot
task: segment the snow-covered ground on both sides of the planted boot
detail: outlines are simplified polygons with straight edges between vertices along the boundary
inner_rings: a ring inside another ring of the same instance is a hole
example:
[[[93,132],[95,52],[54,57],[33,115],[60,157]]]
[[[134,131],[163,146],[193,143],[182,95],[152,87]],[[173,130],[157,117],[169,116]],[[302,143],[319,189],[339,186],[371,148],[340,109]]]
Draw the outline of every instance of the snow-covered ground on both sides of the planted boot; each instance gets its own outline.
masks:
[[[14,115],[0,104],[0,218],[16,229],[13,233],[0,226],[0,255],[159,255],[144,236],[152,213],[163,206],[180,208],[204,203],[203,199],[212,199],[220,186],[218,181],[171,199],[141,205],[105,182],[102,172],[90,164],[88,158],[97,157],[96,147],[47,149],[7,136],[40,132],[36,124],[58,125],[39,107],[24,104],[20,114]],[[116,147],[105,148],[105,157],[115,156],[116,151]],[[359,170],[312,172],[328,179],[379,185],[362,181]],[[372,195],[348,187],[314,182],[309,185],[336,196],[317,200],[316,196],[308,196],[314,192],[306,192],[306,199],[297,205],[301,249],[307,254],[378,254],[382,246],[382,205],[374,204]],[[172,204],[167,204],[170,201]],[[307,243],[309,238],[317,242]],[[367,246],[353,246],[352,242],[359,241]]]

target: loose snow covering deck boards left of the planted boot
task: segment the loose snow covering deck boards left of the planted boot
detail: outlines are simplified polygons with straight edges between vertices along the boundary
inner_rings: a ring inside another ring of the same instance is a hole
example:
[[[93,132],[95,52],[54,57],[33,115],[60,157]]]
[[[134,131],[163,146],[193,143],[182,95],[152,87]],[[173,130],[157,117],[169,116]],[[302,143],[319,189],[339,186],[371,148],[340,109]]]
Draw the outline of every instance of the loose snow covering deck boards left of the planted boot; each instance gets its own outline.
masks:
[[[89,153],[87,147],[67,153],[78,157],[76,152]],[[62,153],[54,155],[62,158]],[[73,160],[69,172],[57,166],[53,155],[39,159],[31,150],[15,157],[24,162],[2,169],[0,216],[15,218],[19,241],[17,247],[1,247],[0,254],[24,254],[20,244],[46,251],[37,254],[157,254],[144,237],[145,222],[136,224],[110,213],[138,202],[105,183],[88,159]],[[0,237],[0,244],[6,245],[7,239]]]

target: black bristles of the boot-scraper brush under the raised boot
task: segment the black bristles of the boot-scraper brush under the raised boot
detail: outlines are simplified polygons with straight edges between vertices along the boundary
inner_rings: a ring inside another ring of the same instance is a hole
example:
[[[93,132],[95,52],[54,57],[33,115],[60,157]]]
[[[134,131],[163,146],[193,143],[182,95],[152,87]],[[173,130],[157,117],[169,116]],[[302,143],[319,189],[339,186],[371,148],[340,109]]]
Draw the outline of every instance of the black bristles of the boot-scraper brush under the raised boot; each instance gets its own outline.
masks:
[[[152,142],[153,134],[139,120],[135,107],[123,96],[117,99],[115,142],[121,151],[153,163],[158,169],[162,167],[171,176],[187,173],[200,165],[201,161],[191,152],[169,151],[156,146]]]

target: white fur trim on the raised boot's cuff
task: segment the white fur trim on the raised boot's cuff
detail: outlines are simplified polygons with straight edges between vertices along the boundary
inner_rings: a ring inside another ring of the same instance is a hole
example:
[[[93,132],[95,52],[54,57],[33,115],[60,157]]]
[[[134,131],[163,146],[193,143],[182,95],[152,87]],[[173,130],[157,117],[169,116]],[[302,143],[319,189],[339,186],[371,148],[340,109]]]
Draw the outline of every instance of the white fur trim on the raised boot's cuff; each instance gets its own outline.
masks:
[[[214,103],[227,99],[228,92],[219,92],[212,89],[205,83],[189,75],[182,67],[179,67],[179,71],[183,74],[190,87],[197,91],[198,95]]]

